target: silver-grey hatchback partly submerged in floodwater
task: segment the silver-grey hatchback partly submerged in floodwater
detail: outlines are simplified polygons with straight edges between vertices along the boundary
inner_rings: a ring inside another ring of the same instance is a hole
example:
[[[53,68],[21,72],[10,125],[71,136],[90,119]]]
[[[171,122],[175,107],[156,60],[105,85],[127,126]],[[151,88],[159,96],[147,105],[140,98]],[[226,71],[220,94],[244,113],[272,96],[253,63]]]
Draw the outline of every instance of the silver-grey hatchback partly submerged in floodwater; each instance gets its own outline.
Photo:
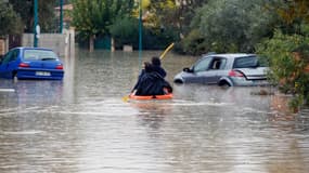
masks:
[[[175,76],[175,83],[206,83],[218,85],[267,85],[269,68],[255,54],[204,55],[192,67]]]

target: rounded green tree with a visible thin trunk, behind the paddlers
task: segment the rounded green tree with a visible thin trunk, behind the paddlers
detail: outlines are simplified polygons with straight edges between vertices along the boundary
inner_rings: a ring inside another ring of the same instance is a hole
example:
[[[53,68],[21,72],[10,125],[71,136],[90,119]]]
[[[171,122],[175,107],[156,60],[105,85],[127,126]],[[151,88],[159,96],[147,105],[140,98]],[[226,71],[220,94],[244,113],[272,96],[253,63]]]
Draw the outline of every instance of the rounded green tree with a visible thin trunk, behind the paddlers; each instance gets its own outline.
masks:
[[[116,18],[131,15],[134,0],[73,0],[73,25],[89,39],[94,49],[95,36],[110,35]]]

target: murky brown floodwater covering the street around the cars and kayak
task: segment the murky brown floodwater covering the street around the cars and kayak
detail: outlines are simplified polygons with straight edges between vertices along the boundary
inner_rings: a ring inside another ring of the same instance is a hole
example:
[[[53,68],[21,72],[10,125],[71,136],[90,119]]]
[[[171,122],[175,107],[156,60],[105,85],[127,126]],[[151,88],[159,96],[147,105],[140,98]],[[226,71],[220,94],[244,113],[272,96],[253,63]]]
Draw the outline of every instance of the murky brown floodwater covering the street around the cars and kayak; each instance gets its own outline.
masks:
[[[268,88],[173,85],[124,102],[160,52],[77,50],[63,81],[0,79],[1,173],[308,173],[309,110]],[[196,57],[168,53],[167,80]]]

